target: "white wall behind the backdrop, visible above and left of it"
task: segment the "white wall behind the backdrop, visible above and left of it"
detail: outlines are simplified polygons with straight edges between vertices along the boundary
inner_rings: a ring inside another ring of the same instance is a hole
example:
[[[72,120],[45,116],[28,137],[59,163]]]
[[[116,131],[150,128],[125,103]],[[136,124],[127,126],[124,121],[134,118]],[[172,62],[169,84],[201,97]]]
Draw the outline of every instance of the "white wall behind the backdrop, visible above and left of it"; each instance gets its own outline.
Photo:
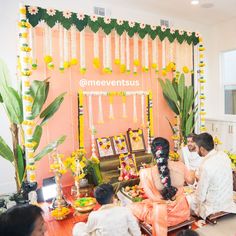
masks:
[[[18,4],[20,1],[1,1],[0,7],[0,24],[1,24],[1,37],[0,37],[0,58],[4,59],[8,64],[14,81],[15,69],[16,69],[16,55],[17,55],[17,19],[18,19]],[[58,10],[71,10],[82,11],[86,14],[93,14],[93,7],[100,6],[109,8],[112,18],[121,18],[124,20],[135,20],[137,22],[144,22],[147,24],[159,25],[160,15],[150,14],[142,10],[135,11],[124,5],[119,6],[119,1],[110,1],[109,3],[103,3],[103,1],[95,0],[25,0],[24,4],[41,6],[44,8],[53,7]],[[163,16],[162,16],[163,17]],[[185,21],[182,19],[176,19],[174,16],[165,16],[165,19],[169,19],[171,24],[176,29],[185,29],[191,31],[199,31],[203,37],[207,37],[207,27],[199,25],[193,22]],[[8,141],[10,144],[10,133],[8,129],[8,123],[4,112],[0,110],[0,136]],[[0,158],[0,194],[14,191],[14,174],[13,168],[9,163]]]

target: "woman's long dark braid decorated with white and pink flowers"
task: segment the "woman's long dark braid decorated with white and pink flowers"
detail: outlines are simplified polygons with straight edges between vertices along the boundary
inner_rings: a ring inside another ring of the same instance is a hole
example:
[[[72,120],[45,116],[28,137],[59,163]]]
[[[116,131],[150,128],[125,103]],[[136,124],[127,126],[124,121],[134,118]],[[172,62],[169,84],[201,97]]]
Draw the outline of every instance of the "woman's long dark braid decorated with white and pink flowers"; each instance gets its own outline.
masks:
[[[151,146],[152,154],[157,162],[161,183],[164,185],[161,195],[164,200],[174,200],[177,188],[171,186],[170,170],[168,168],[168,158],[170,145],[168,140],[158,137],[155,138]]]

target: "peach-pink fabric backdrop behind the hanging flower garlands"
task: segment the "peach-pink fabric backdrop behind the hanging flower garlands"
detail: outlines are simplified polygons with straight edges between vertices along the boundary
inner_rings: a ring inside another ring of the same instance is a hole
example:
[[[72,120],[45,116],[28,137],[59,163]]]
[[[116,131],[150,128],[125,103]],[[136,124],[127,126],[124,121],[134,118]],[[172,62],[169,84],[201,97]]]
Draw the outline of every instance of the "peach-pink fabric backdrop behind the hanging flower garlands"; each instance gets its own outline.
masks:
[[[102,40],[100,40],[102,42]],[[131,71],[132,71],[132,58],[133,58],[133,40],[130,40],[130,55],[131,55]],[[85,78],[88,80],[138,80],[139,87],[86,87],[84,91],[137,91],[151,90],[153,92],[153,120],[154,120],[154,134],[155,136],[163,136],[170,140],[172,135],[169,125],[165,119],[168,117],[173,118],[173,114],[165,103],[162,90],[158,83],[157,78],[160,76],[150,70],[148,73],[141,72],[139,68],[138,75],[121,74],[117,65],[112,66],[112,74],[104,74],[102,68],[93,68],[93,37],[91,33],[86,34],[86,68],[87,73],[81,75],[79,72],[79,66],[72,66],[66,69],[64,73],[60,73],[59,68],[59,34],[58,31],[53,32],[53,62],[55,64],[54,70],[48,70],[43,62],[43,33],[42,29],[37,29],[36,37],[36,57],[38,59],[38,69],[33,71],[32,79],[42,80],[50,76],[50,90],[48,96],[48,103],[50,103],[57,95],[67,92],[65,100],[62,103],[60,110],[54,115],[48,124],[43,127],[43,136],[41,139],[38,150],[46,146],[47,143],[55,140],[61,135],[66,135],[66,141],[59,146],[58,150],[65,154],[65,157],[78,148],[78,103],[77,93],[79,89],[79,80]],[[70,48],[70,47],[69,47]],[[114,40],[112,40],[112,48],[114,49]],[[159,42],[159,65],[161,65],[161,43]],[[168,48],[167,48],[168,50]],[[139,45],[140,62],[141,62],[141,42]],[[79,55],[79,33],[77,33],[77,55]],[[151,61],[151,42],[149,43],[149,59]],[[78,57],[79,59],[79,57]],[[102,45],[100,43],[100,60],[102,62]],[[167,55],[168,60],[168,55]],[[112,61],[114,61],[114,52],[112,53]],[[101,63],[102,64],[102,63]],[[109,116],[109,99],[108,97],[102,97],[103,101],[103,113],[104,124],[98,124],[98,97],[93,97],[93,113],[94,124],[97,129],[96,137],[113,136],[120,133],[125,134],[128,128],[136,129],[141,127],[141,98],[137,96],[137,114],[138,122],[133,122],[133,98],[127,97],[127,114],[128,118],[122,118],[122,103],[121,97],[114,98],[114,120],[110,120]],[[146,104],[146,103],[145,103]],[[146,112],[146,108],[145,108]],[[84,99],[84,118],[85,118],[85,148],[88,156],[91,154],[91,141],[90,132],[88,128],[88,99]],[[146,118],[146,113],[145,113]],[[144,129],[145,140],[146,130]],[[37,180],[39,185],[42,183],[42,179],[52,176],[49,169],[49,155],[44,157],[39,163],[37,163]],[[69,185],[72,183],[72,177],[70,173],[67,173],[62,178],[63,185]]]

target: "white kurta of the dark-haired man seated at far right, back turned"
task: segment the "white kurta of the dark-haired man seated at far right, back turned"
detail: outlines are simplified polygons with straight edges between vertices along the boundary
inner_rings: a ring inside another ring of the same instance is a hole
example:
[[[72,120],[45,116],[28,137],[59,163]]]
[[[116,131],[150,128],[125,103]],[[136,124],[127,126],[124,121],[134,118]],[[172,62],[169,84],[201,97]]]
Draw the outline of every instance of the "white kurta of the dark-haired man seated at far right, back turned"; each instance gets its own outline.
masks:
[[[203,219],[219,211],[236,213],[228,156],[222,151],[210,151],[201,163],[199,174],[196,192],[187,198],[191,209]]]

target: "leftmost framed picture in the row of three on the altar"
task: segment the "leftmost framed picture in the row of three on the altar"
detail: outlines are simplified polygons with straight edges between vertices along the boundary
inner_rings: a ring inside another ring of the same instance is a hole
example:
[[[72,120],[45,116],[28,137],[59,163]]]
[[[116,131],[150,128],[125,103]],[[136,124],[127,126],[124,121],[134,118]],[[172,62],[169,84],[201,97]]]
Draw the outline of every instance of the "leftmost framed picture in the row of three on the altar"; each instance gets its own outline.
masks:
[[[98,154],[100,157],[107,157],[115,155],[111,144],[110,137],[97,138],[96,139]]]

